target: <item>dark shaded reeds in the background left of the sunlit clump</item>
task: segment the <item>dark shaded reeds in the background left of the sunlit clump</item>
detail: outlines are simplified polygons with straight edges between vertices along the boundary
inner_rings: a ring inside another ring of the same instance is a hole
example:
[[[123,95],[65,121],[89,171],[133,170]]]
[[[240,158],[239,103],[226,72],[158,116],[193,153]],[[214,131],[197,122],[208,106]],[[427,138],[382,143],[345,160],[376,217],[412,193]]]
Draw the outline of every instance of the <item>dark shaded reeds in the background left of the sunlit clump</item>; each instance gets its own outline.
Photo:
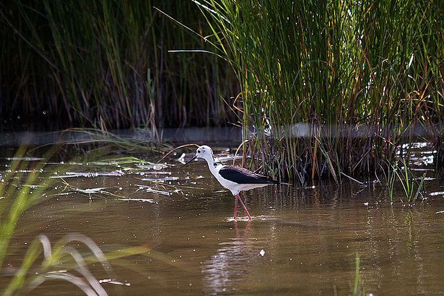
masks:
[[[153,6],[208,31],[191,1],[2,3],[1,117],[51,116],[102,129],[236,120],[221,100],[237,92],[226,62],[169,53],[213,49]]]

